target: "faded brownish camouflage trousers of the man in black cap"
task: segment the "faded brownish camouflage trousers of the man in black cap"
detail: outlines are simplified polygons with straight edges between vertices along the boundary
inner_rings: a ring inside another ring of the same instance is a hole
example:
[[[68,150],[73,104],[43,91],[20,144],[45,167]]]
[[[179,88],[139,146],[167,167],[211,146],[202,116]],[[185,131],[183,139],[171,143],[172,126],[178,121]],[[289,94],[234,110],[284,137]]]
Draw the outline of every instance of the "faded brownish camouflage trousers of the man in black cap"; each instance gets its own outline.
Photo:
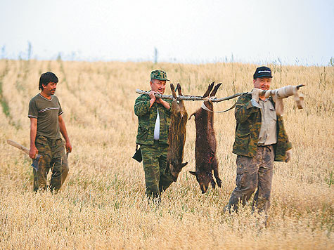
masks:
[[[255,157],[238,155],[236,188],[229,199],[228,209],[238,211],[238,203],[245,205],[256,189],[252,209],[257,208],[259,212],[269,209],[274,157],[272,145],[257,147]]]

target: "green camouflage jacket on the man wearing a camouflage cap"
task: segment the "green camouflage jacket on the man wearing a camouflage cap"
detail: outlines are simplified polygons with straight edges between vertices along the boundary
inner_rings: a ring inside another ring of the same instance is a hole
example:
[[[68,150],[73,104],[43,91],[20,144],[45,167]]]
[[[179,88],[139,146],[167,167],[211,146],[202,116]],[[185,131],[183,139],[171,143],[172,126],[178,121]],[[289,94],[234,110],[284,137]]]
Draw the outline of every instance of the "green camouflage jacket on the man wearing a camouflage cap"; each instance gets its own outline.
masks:
[[[164,99],[169,105],[172,100]],[[160,117],[160,138],[159,143],[168,144],[168,131],[170,124],[170,109],[167,110],[160,103],[153,103],[150,107],[150,97],[147,94],[143,94],[136,99],[134,104],[134,114],[138,117],[138,134],[136,143],[142,145],[153,145],[154,144],[154,126],[157,119],[157,110],[159,107]]]

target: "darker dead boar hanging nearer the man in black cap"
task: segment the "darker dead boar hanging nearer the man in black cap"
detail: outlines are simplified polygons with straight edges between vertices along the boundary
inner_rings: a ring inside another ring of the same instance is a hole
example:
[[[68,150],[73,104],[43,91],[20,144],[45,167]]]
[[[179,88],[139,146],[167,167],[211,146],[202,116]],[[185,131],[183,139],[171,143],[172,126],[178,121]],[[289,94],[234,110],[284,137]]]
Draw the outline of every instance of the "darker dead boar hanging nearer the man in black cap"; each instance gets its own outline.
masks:
[[[215,96],[217,90],[221,84],[217,84],[212,91],[214,82],[210,84],[205,92],[203,98],[209,96]],[[213,105],[209,100],[204,102],[205,106],[213,111]],[[215,188],[216,183],[212,177],[212,170],[214,171],[214,177],[216,178],[218,187],[221,187],[221,180],[218,173],[218,162],[216,158],[216,136],[213,129],[213,112],[208,112],[202,107],[195,113],[191,114],[195,117],[196,126],[196,143],[195,143],[195,163],[196,171],[190,171],[191,174],[196,176],[196,180],[200,184],[200,190],[204,194],[207,191],[209,183],[212,188]]]

